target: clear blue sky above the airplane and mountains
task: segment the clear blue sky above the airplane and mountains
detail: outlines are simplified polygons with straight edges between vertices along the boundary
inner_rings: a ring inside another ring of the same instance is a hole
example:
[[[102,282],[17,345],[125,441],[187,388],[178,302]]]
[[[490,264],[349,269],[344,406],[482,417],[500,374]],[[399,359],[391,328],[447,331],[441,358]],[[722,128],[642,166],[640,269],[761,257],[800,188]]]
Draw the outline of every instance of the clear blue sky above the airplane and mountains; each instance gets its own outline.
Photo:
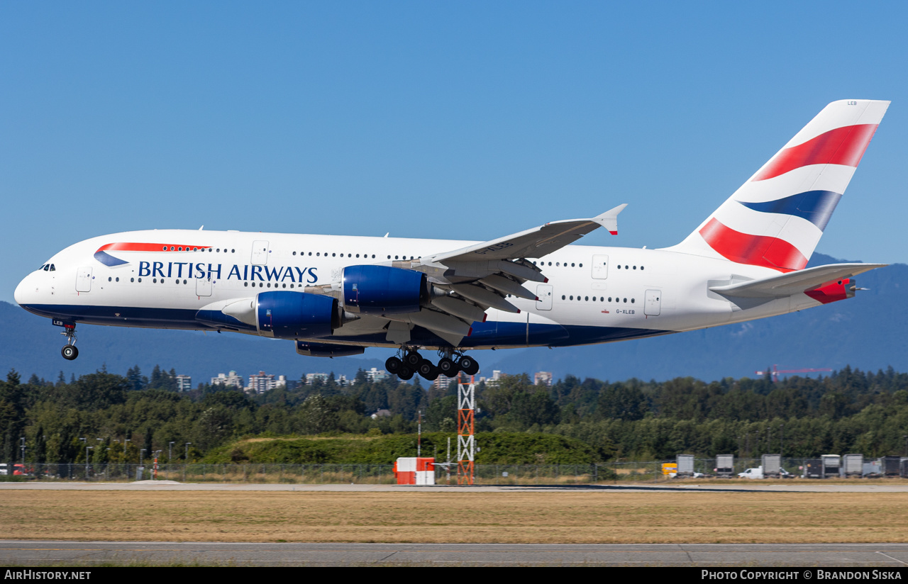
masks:
[[[869,4],[869,6],[868,6]],[[80,239],[676,243],[827,102],[892,100],[817,251],[908,262],[904,3],[0,2],[0,300]]]

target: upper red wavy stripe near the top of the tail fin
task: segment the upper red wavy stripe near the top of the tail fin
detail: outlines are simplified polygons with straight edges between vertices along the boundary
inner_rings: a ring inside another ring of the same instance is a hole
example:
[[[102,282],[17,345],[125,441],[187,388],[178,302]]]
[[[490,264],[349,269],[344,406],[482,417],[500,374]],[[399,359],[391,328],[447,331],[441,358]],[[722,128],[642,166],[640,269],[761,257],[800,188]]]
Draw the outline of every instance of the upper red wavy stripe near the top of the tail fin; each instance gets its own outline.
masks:
[[[836,128],[803,144],[786,148],[751,180],[772,179],[811,164],[841,164],[856,168],[873,138],[876,125],[864,123]]]

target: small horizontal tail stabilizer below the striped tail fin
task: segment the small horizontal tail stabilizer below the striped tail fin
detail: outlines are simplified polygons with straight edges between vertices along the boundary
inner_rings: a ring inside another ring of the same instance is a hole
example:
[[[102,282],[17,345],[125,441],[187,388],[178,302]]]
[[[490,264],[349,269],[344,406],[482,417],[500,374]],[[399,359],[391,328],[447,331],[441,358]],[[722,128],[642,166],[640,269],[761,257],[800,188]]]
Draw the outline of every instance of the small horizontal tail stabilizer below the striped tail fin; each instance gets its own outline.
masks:
[[[756,280],[713,286],[709,289],[723,296],[742,298],[783,298],[818,287],[830,280],[854,277],[887,264],[830,264],[816,268],[801,269],[781,276],[763,277]]]

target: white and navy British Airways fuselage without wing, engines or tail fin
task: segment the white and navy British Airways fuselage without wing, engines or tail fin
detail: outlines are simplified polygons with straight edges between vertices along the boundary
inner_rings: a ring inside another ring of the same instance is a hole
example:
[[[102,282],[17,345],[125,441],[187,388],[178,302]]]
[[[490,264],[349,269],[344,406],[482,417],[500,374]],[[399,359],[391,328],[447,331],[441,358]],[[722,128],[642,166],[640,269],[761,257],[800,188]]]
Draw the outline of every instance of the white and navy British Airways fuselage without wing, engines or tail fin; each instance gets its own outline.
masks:
[[[126,245],[134,242],[144,247]],[[275,289],[301,292],[331,284],[345,267],[390,265],[472,243],[182,229],[124,232],[86,239],[55,254],[23,279],[15,299],[35,314],[60,321],[210,330],[195,319],[203,307]],[[508,297],[518,314],[489,308],[486,322],[475,323],[460,348],[586,345],[820,306],[804,294],[735,304],[707,288],[778,272],[665,249],[572,245],[530,261],[548,277],[545,284],[525,284],[540,299]],[[399,346],[386,338],[387,324],[380,316],[362,316],[333,336],[310,340]],[[431,335],[415,335],[411,344],[444,346]]]

